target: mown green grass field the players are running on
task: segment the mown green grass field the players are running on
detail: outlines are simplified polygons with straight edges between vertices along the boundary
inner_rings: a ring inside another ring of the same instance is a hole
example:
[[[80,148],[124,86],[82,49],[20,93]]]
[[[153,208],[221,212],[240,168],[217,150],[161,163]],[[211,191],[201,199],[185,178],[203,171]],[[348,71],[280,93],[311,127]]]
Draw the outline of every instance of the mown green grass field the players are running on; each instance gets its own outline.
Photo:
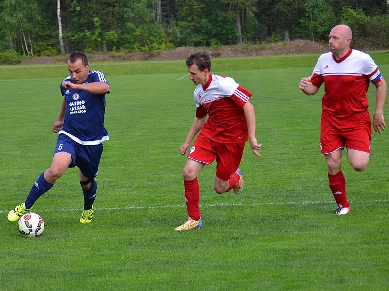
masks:
[[[389,80],[389,53],[372,56]],[[388,290],[389,132],[373,134],[366,171],[343,161],[352,212],[333,215],[319,152],[323,90],[298,89],[317,58],[212,61],[212,72],[253,93],[263,158],[246,146],[240,195],[216,194],[215,164],[204,168],[204,227],[184,233],[173,231],[187,215],[178,148],[195,116],[184,62],[91,64],[111,90],[93,222],[79,223],[83,197],[69,169],[35,203],[46,223],[37,238],[6,215],[51,163],[66,64],[1,66],[0,290]]]

